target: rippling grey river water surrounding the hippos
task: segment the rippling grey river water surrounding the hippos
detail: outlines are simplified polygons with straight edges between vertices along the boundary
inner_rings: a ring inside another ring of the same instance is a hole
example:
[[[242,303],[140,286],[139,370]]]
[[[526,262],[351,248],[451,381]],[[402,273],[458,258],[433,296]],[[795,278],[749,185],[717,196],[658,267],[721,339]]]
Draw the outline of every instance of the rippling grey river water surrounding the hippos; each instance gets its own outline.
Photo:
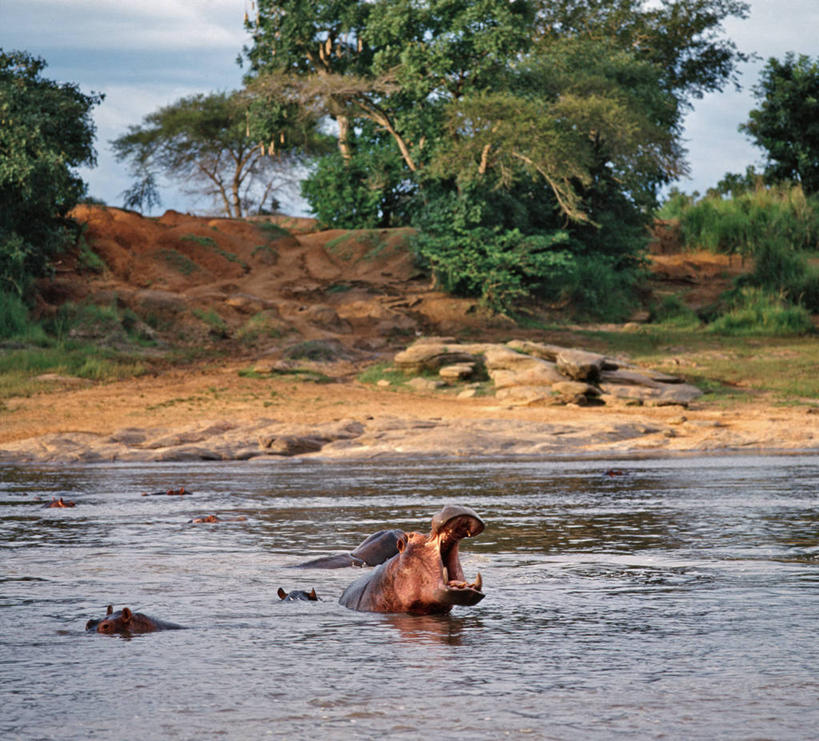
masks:
[[[0,735],[815,738],[818,492],[815,456],[0,467]],[[474,607],[289,568],[445,502]],[[109,603],[188,629],[86,633]]]

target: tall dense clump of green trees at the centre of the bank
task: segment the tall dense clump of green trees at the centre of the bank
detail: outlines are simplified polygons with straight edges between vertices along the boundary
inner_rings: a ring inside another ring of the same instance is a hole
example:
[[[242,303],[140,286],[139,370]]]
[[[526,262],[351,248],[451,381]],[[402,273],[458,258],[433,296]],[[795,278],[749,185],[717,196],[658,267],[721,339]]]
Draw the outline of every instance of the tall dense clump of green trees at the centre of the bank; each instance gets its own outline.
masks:
[[[746,59],[720,38],[742,0],[256,10],[249,89],[337,124],[303,183],[319,221],[414,226],[441,285],[505,312],[625,315],[658,188],[685,170],[683,113]]]

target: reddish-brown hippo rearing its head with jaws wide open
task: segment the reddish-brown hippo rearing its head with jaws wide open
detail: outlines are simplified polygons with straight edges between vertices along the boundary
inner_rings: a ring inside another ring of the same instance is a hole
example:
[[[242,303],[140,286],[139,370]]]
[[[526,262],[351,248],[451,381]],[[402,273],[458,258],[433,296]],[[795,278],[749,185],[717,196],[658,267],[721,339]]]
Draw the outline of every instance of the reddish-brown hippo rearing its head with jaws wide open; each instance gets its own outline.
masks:
[[[447,505],[432,518],[429,535],[404,533],[396,543],[398,553],[347,587],[339,604],[365,612],[417,614],[477,604],[485,596],[481,575],[465,581],[458,543],[483,528],[474,510]]]

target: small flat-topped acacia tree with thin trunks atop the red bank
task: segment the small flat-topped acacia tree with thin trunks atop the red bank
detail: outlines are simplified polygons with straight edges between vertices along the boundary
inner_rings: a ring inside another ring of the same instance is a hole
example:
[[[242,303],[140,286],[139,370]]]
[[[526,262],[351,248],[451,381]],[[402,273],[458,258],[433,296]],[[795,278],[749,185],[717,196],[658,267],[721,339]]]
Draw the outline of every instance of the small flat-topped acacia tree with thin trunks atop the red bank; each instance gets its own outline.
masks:
[[[269,206],[276,185],[322,141],[313,119],[292,106],[239,93],[181,98],[148,114],[112,142],[128,160],[134,185],[127,207],[158,205],[157,176],[188,184],[188,192],[214,198],[226,216]]]

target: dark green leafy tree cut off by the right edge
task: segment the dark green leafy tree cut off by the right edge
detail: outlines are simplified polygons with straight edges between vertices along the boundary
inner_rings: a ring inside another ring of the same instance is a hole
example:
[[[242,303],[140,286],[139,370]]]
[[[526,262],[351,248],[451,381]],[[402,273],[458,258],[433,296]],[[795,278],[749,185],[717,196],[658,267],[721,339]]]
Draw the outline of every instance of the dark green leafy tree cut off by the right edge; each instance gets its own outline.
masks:
[[[754,86],[759,104],[740,125],[765,150],[765,178],[819,192],[819,59],[785,55],[768,60]]]

